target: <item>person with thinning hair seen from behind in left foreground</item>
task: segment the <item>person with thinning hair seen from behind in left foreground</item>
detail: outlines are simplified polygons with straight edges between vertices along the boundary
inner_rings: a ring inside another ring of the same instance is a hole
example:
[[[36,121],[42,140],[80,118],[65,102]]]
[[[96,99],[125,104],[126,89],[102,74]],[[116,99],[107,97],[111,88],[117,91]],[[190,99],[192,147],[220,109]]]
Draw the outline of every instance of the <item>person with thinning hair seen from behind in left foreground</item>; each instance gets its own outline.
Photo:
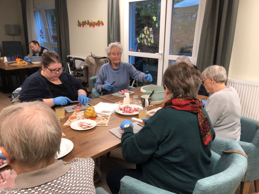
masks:
[[[0,193],[95,193],[94,162],[56,160],[62,130],[44,102],[24,102],[0,113],[0,147],[15,170],[15,186]]]

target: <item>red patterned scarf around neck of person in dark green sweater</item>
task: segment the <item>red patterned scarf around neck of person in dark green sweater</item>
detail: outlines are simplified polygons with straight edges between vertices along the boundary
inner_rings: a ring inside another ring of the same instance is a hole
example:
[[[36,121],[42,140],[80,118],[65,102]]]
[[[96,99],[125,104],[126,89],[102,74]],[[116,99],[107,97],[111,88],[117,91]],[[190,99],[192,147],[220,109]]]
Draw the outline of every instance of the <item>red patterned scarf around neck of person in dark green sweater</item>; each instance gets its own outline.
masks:
[[[197,113],[200,135],[202,136],[204,145],[208,145],[209,141],[211,140],[210,122],[207,116],[201,110],[202,104],[199,100],[193,99],[191,97],[172,99],[164,103],[163,108],[166,107],[171,107],[177,110],[186,110],[191,113]]]

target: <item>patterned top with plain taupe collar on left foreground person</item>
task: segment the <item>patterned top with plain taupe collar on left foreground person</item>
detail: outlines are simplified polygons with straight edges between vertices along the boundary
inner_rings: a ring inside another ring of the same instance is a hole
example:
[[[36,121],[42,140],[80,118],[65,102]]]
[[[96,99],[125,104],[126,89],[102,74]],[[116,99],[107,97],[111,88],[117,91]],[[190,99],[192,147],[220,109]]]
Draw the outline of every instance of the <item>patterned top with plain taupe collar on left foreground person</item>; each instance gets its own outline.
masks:
[[[62,160],[39,170],[19,174],[15,186],[0,190],[9,193],[95,193],[91,158],[75,158],[70,163]]]

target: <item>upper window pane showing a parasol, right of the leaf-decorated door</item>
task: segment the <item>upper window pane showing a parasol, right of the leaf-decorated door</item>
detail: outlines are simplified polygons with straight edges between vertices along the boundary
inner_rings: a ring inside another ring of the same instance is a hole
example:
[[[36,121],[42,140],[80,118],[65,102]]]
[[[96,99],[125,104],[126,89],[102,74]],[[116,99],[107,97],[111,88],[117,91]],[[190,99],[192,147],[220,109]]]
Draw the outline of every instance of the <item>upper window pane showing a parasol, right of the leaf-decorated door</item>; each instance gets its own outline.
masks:
[[[172,15],[171,55],[192,56],[199,1],[175,0]]]

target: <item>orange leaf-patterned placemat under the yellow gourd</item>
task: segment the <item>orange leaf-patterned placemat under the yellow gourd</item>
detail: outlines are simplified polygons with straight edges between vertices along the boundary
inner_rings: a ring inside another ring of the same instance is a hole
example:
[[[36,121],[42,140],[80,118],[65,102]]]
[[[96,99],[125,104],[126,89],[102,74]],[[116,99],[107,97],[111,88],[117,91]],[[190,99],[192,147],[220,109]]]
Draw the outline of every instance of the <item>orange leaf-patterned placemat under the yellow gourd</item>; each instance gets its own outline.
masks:
[[[107,126],[110,120],[110,115],[97,114],[94,118],[85,118],[84,110],[75,110],[74,113],[68,118],[64,126],[70,126],[74,121],[90,119],[97,123],[97,126]]]

